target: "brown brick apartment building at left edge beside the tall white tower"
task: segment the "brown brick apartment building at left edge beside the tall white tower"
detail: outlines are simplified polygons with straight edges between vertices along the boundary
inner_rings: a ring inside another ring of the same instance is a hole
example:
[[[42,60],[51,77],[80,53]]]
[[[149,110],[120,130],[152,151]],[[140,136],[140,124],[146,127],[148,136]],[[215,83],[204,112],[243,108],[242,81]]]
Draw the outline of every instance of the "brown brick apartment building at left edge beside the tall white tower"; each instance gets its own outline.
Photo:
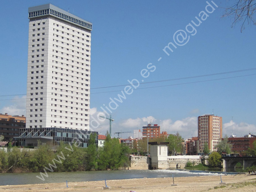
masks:
[[[11,116],[7,113],[0,114],[0,135],[3,135],[4,141],[18,141],[13,139],[13,137],[19,136],[19,129],[26,127],[26,117],[24,115],[20,116]],[[18,144],[18,142],[17,142]]]

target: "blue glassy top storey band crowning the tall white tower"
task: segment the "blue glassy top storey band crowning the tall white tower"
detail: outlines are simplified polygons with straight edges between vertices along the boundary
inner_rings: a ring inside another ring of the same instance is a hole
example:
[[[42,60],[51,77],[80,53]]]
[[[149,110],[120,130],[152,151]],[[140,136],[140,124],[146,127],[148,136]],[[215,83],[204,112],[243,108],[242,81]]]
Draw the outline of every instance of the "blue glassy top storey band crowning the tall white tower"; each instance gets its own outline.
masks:
[[[64,21],[68,21],[69,23],[89,29],[90,31],[92,30],[92,23],[89,21],[79,18],[78,16],[75,16],[68,11],[58,8],[50,3],[29,8],[29,19],[45,15],[54,16]]]

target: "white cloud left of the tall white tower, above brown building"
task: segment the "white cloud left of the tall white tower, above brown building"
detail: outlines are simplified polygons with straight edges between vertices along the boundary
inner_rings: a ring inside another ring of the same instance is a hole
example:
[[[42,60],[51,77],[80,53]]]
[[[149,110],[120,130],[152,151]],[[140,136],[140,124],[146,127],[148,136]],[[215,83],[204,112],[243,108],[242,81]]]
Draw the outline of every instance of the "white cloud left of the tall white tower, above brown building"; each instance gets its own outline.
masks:
[[[11,100],[10,106],[4,106],[0,109],[2,114],[8,113],[9,115],[26,115],[26,96],[15,96]]]

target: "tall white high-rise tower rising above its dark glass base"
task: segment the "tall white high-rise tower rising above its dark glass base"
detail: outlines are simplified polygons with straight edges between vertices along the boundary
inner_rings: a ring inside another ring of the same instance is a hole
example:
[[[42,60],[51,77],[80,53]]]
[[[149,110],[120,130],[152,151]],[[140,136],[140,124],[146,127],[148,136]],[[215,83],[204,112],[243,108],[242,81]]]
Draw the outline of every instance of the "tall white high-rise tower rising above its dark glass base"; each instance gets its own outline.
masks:
[[[89,130],[91,30],[54,5],[29,8],[26,128]]]

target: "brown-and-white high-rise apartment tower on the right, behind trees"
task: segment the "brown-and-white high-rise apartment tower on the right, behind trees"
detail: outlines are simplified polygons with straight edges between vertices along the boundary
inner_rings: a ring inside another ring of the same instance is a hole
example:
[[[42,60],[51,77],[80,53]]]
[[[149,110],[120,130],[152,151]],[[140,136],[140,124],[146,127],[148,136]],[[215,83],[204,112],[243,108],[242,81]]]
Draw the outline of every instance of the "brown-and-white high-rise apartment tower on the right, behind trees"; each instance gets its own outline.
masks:
[[[207,143],[211,152],[222,138],[222,117],[205,114],[198,117],[198,153],[203,153],[204,144]]]

